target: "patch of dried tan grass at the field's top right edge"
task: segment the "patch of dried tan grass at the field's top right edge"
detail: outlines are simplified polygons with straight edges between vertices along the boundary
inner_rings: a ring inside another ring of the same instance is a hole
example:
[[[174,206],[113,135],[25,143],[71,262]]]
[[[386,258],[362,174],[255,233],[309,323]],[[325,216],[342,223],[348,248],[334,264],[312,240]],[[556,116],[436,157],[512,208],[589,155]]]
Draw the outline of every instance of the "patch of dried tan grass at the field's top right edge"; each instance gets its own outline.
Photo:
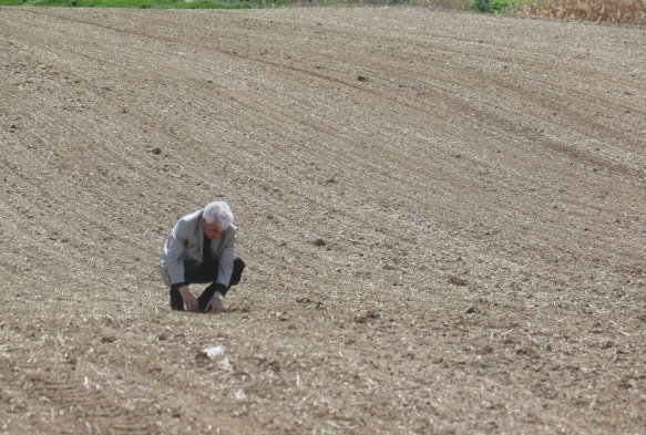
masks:
[[[539,0],[516,12],[560,20],[637,24],[646,22],[645,0]]]

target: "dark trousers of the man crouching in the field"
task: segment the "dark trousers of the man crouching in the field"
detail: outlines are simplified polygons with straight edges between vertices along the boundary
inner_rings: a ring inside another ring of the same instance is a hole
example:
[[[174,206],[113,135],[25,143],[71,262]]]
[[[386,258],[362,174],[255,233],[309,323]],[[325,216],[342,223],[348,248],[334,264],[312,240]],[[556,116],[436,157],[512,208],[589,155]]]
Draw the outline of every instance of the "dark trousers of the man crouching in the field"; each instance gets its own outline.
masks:
[[[206,304],[213,298],[213,294],[216,290],[219,290],[223,294],[226,294],[227,290],[232,288],[232,286],[237,286],[240,282],[240,278],[243,277],[243,270],[245,270],[245,262],[242,258],[236,257],[234,259],[234,271],[232,273],[230,282],[227,287],[216,283],[217,280],[217,262],[203,262],[202,265],[197,266],[189,261],[184,261],[184,282],[186,286],[192,283],[207,283],[211,282],[202,294],[197,297],[197,304],[199,307],[199,311],[206,310]],[[219,288],[218,288],[219,287]],[[171,286],[171,309],[172,310],[184,310],[184,299],[182,299],[182,294],[180,293],[178,287],[175,284]]]

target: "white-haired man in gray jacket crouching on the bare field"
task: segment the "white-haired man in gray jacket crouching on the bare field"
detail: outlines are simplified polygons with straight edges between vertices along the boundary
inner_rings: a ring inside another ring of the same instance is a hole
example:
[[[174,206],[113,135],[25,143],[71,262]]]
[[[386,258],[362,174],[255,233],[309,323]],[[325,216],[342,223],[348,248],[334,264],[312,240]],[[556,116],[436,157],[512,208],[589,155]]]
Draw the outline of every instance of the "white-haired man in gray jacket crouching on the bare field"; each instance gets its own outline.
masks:
[[[218,313],[227,290],[240,281],[245,262],[235,256],[236,227],[229,206],[211,203],[184,216],[168,236],[160,273],[171,287],[171,309]],[[188,286],[211,284],[195,298]]]

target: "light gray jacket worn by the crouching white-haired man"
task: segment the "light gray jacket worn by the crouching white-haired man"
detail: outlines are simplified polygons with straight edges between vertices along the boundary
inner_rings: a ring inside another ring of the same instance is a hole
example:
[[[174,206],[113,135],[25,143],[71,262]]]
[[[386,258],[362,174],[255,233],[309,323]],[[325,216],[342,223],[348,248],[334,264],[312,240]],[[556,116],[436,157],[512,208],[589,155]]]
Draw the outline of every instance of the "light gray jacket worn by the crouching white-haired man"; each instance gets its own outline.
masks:
[[[168,236],[162,259],[160,260],[160,273],[166,286],[184,282],[184,261],[202,263],[204,248],[204,228],[202,214],[204,209],[184,216],[175,224],[173,232]],[[234,270],[234,242],[236,240],[236,227],[232,224],[222,237],[211,240],[211,258],[219,261],[217,281],[228,287]]]

